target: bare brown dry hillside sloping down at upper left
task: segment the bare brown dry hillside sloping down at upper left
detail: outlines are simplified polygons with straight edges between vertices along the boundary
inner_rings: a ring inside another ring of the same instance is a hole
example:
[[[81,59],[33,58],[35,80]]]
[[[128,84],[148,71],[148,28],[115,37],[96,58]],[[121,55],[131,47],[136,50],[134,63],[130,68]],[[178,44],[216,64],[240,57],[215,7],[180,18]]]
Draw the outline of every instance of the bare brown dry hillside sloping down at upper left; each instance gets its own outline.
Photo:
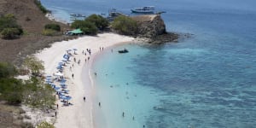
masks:
[[[0,39],[0,61],[10,61],[20,64],[23,56],[34,53],[50,43],[67,38],[64,36],[46,37],[41,35],[44,25],[53,23],[38,9],[34,0],[0,0],[0,15],[15,15],[18,24],[22,26],[25,34],[18,39]],[[55,22],[56,23],[56,22]],[[61,25],[62,30],[68,28]]]

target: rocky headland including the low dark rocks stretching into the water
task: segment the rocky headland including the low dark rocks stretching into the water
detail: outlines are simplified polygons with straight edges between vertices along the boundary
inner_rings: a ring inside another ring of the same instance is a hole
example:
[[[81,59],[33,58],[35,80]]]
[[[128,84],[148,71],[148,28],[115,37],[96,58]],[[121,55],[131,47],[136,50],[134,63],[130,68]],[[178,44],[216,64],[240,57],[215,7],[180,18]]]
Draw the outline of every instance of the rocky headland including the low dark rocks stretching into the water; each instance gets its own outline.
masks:
[[[178,34],[166,32],[165,22],[160,15],[138,15],[131,18],[137,21],[137,37],[148,38],[148,43],[162,44],[178,38]]]

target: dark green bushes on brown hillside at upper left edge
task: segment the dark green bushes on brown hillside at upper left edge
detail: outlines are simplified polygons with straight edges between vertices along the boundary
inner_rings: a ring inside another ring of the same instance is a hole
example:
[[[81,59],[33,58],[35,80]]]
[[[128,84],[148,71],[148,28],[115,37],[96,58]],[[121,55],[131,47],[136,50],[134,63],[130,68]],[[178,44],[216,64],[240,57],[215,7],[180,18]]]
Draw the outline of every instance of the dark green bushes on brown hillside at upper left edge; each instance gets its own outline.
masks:
[[[13,39],[23,33],[21,26],[16,22],[15,15],[4,15],[0,17],[0,34],[1,38]]]

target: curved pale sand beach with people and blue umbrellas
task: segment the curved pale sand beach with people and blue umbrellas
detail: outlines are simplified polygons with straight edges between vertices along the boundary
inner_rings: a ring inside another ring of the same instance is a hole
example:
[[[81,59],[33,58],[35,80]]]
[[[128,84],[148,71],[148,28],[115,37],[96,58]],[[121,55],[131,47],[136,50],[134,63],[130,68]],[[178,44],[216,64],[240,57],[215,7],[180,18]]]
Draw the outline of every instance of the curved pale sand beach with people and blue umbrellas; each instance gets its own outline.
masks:
[[[123,44],[132,42],[134,38],[121,36],[113,33],[98,34],[96,37],[85,36],[69,41],[61,41],[52,44],[50,48],[43,49],[36,54],[39,60],[44,61],[45,75],[52,75],[57,72],[56,67],[63,59],[63,55],[67,53],[67,49],[76,50],[77,55],[72,55],[68,61],[67,67],[64,67],[64,78],[67,79],[68,95],[72,97],[69,101],[71,105],[63,106],[60,100],[57,100],[59,108],[57,109],[57,118],[55,127],[72,127],[72,128],[92,128],[94,125],[92,115],[92,96],[93,85],[90,84],[90,65],[94,56],[100,51],[100,47],[104,50],[115,44]],[[86,52],[91,50],[91,55]],[[84,55],[82,52],[86,52]],[[109,49],[108,49],[109,50]],[[73,53],[73,51],[71,52]],[[90,61],[88,62],[88,57]],[[73,58],[76,58],[76,62]],[[86,59],[86,62],[85,62]],[[78,61],[80,60],[80,63]],[[87,71],[87,73],[83,73]],[[72,78],[72,74],[74,77]],[[82,75],[83,74],[83,75]],[[85,74],[85,75],[84,75]],[[84,102],[83,97],[86,97]]]

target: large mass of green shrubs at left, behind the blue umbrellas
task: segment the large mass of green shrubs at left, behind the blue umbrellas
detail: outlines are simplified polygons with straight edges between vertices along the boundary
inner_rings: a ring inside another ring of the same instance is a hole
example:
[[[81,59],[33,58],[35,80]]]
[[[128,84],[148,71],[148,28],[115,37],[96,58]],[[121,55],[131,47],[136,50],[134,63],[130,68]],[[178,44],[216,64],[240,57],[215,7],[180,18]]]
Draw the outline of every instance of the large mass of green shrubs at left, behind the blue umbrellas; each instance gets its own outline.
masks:
[[[32,72],[31,79],[15,79],[17,70],[9,63],[0,62],[0,100],[9,103],[26,103],[34,108],[49,109],[55,103],[54,90],[44,79],[38,77],[44,69],[42,61],[34,56],[27,57],[25,66]]]

